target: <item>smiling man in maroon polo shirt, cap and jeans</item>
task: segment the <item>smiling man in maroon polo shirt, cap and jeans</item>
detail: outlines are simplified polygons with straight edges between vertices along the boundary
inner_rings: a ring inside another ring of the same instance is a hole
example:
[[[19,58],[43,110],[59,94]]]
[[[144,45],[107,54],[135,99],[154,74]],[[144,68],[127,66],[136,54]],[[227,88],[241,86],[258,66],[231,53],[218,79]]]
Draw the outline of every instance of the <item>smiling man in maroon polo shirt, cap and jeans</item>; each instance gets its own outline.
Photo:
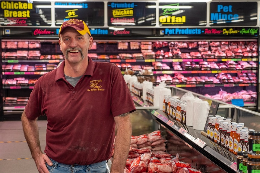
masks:
[[[113,63],[93,62],[88,26],[70,19],[59,30],[65,60],[41,76],[21,116],[24,135],[40,173],[123,173],[135,111],[130,91]],[[47,117],[46,147],[40,148],[37,118]],[[116,138],[115,138],[116,131]]]

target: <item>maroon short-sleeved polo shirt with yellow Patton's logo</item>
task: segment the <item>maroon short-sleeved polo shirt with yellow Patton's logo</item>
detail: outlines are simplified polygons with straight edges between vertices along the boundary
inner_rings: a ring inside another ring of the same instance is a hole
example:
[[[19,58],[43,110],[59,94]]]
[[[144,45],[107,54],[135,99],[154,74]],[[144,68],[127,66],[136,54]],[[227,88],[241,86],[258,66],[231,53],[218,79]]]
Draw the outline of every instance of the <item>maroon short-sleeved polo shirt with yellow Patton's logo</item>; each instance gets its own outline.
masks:
[[[90,165],[109,159],[114,116],[135,111],[118,66],[88,59],[75,88],[65,80],[62,62],[38,79],[25,107],[29,119],[47,116],[44,152],[64,164]]]

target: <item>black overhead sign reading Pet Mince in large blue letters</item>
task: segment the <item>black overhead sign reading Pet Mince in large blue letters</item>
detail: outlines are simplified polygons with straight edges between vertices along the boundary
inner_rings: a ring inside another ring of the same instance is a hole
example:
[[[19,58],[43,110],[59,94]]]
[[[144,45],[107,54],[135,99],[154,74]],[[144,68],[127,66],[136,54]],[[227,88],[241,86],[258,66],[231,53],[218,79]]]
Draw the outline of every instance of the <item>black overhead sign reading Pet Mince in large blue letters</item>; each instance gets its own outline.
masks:
[[[256,26],[257,2],[211,2],[211,26]]]

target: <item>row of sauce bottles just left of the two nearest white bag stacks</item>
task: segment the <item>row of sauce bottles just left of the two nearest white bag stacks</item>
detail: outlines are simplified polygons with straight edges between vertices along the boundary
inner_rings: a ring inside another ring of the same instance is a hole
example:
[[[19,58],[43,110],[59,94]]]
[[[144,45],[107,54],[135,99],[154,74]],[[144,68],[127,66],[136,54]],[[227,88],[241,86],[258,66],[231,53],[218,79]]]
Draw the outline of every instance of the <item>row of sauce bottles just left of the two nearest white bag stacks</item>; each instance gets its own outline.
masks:
[[[171,95],[163,97],[163,112],[183,124],[186,123],[186,107],[187,104],[178,98]]]

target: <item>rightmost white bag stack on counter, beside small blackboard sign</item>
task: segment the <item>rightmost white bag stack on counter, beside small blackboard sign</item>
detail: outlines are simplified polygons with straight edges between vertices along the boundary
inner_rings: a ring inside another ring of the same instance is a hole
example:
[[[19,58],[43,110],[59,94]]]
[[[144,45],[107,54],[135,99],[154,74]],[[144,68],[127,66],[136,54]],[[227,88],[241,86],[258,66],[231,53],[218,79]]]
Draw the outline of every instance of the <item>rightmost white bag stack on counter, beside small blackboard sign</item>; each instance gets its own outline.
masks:
[[[193,119],[192,128],[194,130],[204,130],[205,123],[208,118],[209,103],[207,101],[199,100],[193,104]]]

